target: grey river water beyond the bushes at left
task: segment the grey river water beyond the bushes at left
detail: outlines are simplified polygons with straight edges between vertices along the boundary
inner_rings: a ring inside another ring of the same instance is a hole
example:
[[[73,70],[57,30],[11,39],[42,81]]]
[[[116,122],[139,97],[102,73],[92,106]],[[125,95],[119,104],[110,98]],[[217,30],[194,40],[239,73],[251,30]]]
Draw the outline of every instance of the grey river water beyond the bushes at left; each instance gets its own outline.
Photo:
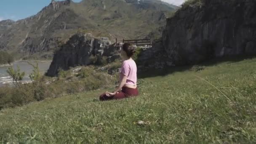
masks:
[[[31,62],[32,64],[35,64]],[[49,68],[51,64],[51,61],[46,61],[46,62],[38,62],[38,67],[40,69],[40,72],[44,74],[47,69]],[[8,67],[13,67],[14,69],[17,68],[17,66],[20,67],[21,72],[25,72],[24,79],[22,80],[22,83],[29,83],[31,82],[29,78],[29,74],[32,73],[33,67],[29,65],[27,62],[14,62],[13,66],[8,66]],[[3,86],[4,84],[9,84],[12,83],[12,78],[8,75],[6,72],[8,67],[0,67],[0,86]]]

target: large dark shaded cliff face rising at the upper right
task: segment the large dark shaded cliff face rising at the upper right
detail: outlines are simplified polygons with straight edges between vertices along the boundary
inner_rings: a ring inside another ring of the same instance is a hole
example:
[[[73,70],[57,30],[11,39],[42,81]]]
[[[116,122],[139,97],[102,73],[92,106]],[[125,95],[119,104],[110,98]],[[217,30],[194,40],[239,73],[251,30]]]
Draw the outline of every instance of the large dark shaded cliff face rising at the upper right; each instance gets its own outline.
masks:
[[[167,19],[163,45],[176,65],[256,54],[255,0],[202,0]]]

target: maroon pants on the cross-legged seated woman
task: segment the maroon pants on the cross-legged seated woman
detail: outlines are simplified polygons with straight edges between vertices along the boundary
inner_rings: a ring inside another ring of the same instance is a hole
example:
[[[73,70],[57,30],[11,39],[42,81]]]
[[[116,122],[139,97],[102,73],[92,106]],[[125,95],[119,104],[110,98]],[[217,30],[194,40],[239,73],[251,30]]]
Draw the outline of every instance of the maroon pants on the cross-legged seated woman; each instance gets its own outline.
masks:
[[[130,96],[138,96],[138,95],[139,95],[139,91],[138,91],[137,88],[123,87],[122,91],[117,93],[115,96],[106,96],[106,94],[103,93],[99,97],[99,100],[100,101],[107,101],[107,100],[112,100],[112,99],[125,99],[125,98],[128,98]]]

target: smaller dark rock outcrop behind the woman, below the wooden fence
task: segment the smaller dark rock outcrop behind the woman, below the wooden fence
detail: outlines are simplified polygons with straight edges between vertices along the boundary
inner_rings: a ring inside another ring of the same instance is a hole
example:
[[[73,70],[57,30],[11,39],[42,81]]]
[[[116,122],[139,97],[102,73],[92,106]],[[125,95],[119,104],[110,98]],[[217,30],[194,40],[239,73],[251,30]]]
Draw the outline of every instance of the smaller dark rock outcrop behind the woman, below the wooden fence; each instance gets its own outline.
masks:
[[[117,54],[118,49],[107,37],[97,39],[91,34],[75,34],[61,46],[59,51],[56,51],[46,75],[55,76],[59,69],[67,70],[69,67],[89,65],[103,56],[111,59],[113,55],[113,60],[118,59],[120,58]]]

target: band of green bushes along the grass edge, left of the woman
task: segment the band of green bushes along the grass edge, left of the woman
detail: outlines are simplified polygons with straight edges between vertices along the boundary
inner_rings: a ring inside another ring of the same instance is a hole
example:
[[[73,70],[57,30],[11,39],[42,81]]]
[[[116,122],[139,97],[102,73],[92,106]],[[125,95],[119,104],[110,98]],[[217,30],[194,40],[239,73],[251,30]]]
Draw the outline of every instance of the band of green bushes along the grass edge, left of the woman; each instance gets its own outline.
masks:
[[[77,75],[73,75],[72,70],[60,70],[58,77],[54,78],[41,76],[37,73],[37,66],[34,66],[31,74],[32,83],[19,84],[19,87],[0,87],[0,109],[42,101],[46,98],[112,87],[118,80],[117,75],[97,71],[93,66],[82,67]]]

